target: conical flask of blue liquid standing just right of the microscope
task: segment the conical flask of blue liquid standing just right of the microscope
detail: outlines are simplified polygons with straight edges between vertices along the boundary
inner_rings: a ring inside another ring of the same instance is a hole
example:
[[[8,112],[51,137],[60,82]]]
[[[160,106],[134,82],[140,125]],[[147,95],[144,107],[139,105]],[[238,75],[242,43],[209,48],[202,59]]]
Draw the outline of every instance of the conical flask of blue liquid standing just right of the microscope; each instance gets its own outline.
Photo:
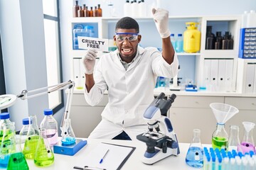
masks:
[[[201,131],[193,130],[193,140],[186,154],[186,164],[195,168],[203,167],[203,147],[200,140]]]

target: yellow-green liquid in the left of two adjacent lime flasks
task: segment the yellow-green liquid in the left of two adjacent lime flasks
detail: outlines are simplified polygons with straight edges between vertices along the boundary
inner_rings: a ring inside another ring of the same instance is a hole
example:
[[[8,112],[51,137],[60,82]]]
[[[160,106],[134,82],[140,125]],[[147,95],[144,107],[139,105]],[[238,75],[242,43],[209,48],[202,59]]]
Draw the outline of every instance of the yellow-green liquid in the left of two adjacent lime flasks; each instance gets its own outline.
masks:
[[[26,139],[24,148],[23,148],[23,154],[28,159],[33,159],[36,153],[36,147],[38,145],[39,136],[33,135],[29,136]]]

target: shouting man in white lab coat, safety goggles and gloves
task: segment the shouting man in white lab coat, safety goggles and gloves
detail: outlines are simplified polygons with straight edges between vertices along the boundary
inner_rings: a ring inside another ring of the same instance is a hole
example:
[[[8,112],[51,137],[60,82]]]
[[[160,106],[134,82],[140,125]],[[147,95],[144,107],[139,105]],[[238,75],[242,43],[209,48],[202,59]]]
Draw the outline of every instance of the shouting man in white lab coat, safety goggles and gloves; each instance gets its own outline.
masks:
[[[159,8],[152,9],[152,13],[162,39],[162,52],[155,47],[139,47],[139,25],[133,18],[124,17],[116,25],[117,50],[102,55],[96,67],[96,50],[87,50],[83,57],[87,103],[97,105],[106,90],[109,96],[102,120],[89,138],[135,140],[146,132],[143,113],[154,100],[156,78],[171,78],[178,73],[168,26],[169,12]]]

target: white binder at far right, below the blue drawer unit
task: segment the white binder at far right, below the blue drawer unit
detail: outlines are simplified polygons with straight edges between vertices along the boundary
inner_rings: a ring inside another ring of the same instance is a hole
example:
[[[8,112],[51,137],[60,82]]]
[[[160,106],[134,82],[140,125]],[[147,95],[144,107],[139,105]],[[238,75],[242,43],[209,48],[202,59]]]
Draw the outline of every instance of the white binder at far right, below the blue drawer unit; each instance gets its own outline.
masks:
[[[247,63],[245,94],[252,94],[255,81],[255,64]]]

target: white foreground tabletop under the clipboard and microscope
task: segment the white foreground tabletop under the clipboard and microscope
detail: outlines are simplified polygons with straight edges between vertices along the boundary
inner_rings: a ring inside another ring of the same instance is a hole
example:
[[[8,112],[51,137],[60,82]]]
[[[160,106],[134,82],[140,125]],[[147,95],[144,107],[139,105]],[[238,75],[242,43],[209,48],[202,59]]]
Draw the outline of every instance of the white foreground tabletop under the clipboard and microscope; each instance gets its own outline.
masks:
[[[192,135],[192,133],[191,133]],[[48,167],[38,167],[33,163],[33,159],[26,159],[29,169],[40,170],[40,169],[49,169],[49,170],[71,170],[73,166],[85,166],[83,164],[85,157],[92,152],[100,142],[106,142],[115,145],[124,145],[129,147],[136,147],[132,155],[127,159],[124,166],[122,166],[122,170],[131,170],[131,169],[141,169],[141,170],[164,170],[164,169],[186,169],[193,170],[194,168],[188,166],[185,162],[186,153],[188,152],[189,144],[188,143],[179,143],[181,153],[178,156],[170,156],[166,157],[166,159],[162,159],[159,162],[156,162],[153,165],[144,164],[141,159],[143,157],[144,152],[146,150],[146,144],[139,140],[129,141],[129,140],[96,140],[96,139],[86,139],[87,145],[82,147],[80,151],[78,151],[73,156],[68,156],[64,154],[54,154],[54,163]],[[203,145],[210,146],[210,145]],[[112,160],[114,162],[114,160]]]

